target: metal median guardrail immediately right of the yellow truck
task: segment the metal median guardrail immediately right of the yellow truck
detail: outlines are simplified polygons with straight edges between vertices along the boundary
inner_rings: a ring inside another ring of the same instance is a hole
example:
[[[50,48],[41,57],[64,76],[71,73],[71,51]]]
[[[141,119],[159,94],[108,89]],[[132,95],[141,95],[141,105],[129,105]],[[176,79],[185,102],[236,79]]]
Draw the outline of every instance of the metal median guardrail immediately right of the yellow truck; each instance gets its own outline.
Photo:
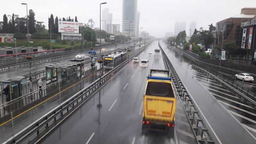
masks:
[[[180,77],[178,76],[177,72],[175,71],[173,65],[171,64],[169,58],[166,56],[159,42],[158,46],[162,51],[163,61],[166,65],[166,68],[171,71],[172,83],[174,84],[174,87],[178,92],[178,96],[182,101],[182,107],[186,113],[186,117],[188,119],[189,125],[191,127],[197,144],[215,144],[214,140],[211,137],[211,134],[209,133],[206,125],[204,124],[204,120],[200,116],[200,112],[194,105],[191,96],[189,95],[187,89],[182,83]]]

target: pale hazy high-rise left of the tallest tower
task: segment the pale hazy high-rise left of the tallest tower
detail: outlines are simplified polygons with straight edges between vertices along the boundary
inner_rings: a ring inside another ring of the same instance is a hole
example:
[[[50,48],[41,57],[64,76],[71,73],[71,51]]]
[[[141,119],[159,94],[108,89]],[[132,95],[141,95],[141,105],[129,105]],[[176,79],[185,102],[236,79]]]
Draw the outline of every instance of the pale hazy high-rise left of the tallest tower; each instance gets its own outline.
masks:
[[[107,24],[112,24],[112,14],[109,13],[109,9],[105,8],[102,10],[102,30],[105,30],[107,33],[110,33],[110,27],[107,27]],[[109,25],[108,25],[109,26]]]

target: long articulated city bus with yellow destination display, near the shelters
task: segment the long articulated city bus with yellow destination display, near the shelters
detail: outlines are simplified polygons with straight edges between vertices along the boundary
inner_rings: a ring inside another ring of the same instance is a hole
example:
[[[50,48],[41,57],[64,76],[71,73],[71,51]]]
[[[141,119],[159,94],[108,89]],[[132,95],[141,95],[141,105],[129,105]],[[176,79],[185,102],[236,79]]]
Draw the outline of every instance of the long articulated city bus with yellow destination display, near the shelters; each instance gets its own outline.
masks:
[[[104,63],[103,63],[104,66],[103,67],[105,69],[112,69],[112,68],[116,67],[117,65],[120,65],[126,59],[127,59],[126,52],[115,52],[113,54],[110,54],[110,55],[104,57]]]

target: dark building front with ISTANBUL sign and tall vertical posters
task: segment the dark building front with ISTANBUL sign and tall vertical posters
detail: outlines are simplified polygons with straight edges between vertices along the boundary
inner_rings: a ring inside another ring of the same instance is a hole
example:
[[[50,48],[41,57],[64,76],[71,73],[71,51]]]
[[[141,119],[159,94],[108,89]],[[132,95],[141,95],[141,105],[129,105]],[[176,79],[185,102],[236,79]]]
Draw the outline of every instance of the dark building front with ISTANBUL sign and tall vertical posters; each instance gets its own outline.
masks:
[[[256,64],[256,15],[252,20],[241,23],[243,35],[241,48],[248,49],[252,64]]]

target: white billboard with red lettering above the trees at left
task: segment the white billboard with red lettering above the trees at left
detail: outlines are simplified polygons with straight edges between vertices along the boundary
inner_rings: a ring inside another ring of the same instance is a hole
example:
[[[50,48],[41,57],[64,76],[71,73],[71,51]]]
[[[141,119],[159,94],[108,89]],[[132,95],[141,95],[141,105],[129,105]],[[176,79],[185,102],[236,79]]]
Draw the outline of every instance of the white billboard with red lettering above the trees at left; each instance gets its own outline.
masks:
[[[59,33],[79,33],[78,22],[59,21]]]

